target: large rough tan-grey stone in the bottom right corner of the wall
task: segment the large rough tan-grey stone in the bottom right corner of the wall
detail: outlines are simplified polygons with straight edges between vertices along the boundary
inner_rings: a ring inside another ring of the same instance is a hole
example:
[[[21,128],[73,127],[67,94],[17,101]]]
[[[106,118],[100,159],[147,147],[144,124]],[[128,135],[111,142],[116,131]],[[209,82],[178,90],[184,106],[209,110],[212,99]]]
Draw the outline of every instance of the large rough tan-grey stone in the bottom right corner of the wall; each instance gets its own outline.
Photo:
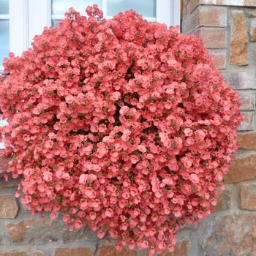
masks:
[[[208,221],[200,239],[202,256],[256,255],[255,214],[234,214]]]

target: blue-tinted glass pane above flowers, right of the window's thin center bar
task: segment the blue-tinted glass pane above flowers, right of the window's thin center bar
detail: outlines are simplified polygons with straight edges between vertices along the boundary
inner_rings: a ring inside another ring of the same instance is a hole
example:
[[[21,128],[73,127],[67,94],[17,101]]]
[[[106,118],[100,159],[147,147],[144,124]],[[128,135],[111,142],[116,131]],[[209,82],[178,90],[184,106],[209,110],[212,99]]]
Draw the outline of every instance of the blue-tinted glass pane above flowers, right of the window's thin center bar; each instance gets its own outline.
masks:
[[[144,17],[156,17],[156,0],[108,0],[108,15],[135,10]]]

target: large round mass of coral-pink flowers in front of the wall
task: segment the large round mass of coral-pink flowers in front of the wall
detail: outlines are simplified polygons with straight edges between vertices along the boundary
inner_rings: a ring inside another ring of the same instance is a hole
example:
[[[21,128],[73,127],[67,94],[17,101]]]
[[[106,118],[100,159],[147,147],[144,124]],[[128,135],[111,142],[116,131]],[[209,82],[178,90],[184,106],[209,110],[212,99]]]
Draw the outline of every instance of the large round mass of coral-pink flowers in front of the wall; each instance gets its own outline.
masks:
[[[86,11],[4,60],[1,157],[31,214],[61,212],[117,249],[173,251],[179,227],[217,203],[238,148],[238,93],[201,39],[132,10]]]

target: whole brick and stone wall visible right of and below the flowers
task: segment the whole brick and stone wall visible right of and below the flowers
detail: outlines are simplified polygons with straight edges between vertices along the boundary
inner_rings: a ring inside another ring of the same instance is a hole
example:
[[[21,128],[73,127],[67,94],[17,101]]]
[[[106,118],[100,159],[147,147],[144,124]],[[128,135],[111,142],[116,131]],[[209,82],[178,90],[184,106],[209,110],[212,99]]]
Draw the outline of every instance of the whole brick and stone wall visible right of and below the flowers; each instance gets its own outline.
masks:
[[[256,256],[256,0],[183,0],[181,29],[203,39],[223,78],[240,93],[246,119],[214,213],[182,228],[175,252],[162,255]],[[116,252],[111,241],[86,228],[70,231],[60,219],[29,216],[14,197],[17,184],[0,178],[0,256],[146,255]]]

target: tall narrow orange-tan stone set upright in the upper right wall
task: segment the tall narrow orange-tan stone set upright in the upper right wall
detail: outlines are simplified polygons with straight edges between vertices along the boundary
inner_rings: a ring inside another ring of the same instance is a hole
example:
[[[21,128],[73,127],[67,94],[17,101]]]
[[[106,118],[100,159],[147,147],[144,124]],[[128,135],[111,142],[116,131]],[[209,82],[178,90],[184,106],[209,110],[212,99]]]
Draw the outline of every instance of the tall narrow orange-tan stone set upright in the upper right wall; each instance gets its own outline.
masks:
[[[243,66],[248,64],[248,44],[244,11],[234,10],[230,14],[232,16],[232,22],[230,24],[230,64]]]

